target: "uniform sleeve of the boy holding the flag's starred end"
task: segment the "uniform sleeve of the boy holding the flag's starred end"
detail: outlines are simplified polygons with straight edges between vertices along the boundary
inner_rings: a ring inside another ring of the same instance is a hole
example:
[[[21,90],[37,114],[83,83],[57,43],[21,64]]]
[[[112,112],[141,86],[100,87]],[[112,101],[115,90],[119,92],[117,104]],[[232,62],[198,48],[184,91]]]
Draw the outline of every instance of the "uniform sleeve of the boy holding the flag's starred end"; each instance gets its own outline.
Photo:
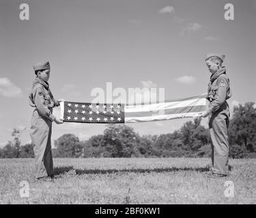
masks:
[[[50,121],[55,120],[55,116],[51,113],[51,110],[49,110],[44,105],[44,91],[42,91],[41,88],[38,88],[35,90],[35,107],[38,110],[38,113],[42,116],[44,116],[46,119],[49,119]]]

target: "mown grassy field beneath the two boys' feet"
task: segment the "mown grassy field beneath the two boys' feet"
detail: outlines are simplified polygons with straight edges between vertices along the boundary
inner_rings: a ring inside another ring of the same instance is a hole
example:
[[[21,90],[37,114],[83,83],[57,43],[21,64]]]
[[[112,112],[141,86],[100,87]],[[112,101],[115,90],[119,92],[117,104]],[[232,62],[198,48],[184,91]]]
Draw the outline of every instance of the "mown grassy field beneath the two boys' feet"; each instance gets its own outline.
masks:
[[[33,159],[0,159],[0,204],[255,204],[256,159],[229,164],[228,178],[208,178],[207,158],[54,159],[52,183],[35,181]]]

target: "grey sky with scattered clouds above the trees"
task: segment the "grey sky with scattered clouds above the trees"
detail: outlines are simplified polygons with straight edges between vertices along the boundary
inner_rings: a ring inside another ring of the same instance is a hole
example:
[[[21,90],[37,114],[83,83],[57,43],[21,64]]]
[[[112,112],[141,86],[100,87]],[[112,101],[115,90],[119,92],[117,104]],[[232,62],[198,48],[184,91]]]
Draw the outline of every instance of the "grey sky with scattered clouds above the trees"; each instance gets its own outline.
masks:
[[[29,5],[29,20],[20,20],[22,3]],[[233,20],[225,20],[226,3],[233,4]],[[210,73],[203,57],[218,52],[226,55],[231,110],[256,102],[255,20],[256,0],[0,0],[0,146],[13,140],[14,127],[22,144],[31,141],[28,95],[33,64],[40,61],[51,64],[48,82],[56,99],[91,102],[91,92],[106,92],[106,82],[127,93],[164,88],[165,99],[180,99],[207,92]],[[192,120],[128,125],[141,135],[166,134]],[[104,129],[53,123],[52,140],[63,134],[87,140]]]

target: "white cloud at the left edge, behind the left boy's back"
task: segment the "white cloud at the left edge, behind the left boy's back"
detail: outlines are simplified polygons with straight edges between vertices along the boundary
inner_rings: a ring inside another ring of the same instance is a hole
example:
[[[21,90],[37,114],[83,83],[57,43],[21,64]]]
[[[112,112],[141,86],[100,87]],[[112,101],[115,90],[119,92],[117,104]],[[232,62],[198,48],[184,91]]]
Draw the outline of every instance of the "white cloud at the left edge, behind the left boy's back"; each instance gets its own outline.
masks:
[[[4,97],[19,97],[22,95],[22,91],[8,78],[0,78],[0,95]]]

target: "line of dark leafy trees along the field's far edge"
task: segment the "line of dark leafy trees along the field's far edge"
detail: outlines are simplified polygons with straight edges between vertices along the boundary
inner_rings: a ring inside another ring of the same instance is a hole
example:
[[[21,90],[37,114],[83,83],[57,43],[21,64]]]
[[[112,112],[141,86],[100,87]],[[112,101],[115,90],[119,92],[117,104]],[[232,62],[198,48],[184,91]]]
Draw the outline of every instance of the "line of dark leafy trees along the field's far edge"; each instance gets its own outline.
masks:
[[[33,145],[20,146],[19,131],[13,142],[0,149],[1,158],[33,157]],[[209,129],[201,119],[188,121],[173,133],[140,136],[127,125],[109,124],[103,134],[80,141],[74,134],[55,140],[53,157],[210,157]],[[229,123],[229,157],[256,157],[256,108],[253,102],[239,104]]]

